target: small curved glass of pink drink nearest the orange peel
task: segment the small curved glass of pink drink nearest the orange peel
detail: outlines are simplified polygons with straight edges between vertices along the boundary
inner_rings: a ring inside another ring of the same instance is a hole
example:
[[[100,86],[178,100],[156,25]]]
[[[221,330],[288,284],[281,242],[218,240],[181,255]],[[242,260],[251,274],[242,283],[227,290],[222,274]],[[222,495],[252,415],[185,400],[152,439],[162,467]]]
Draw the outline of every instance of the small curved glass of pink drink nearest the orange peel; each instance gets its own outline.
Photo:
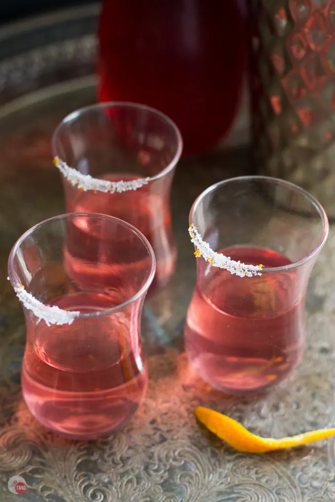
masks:
[[[211,249],[263,265],[239,277],[197,259],[185,345],[200,376],[233,394],[285,379],[305,346],[305,295],[327,234],[320,204],[275,178],[246,176],[207,188],[189,216]]]

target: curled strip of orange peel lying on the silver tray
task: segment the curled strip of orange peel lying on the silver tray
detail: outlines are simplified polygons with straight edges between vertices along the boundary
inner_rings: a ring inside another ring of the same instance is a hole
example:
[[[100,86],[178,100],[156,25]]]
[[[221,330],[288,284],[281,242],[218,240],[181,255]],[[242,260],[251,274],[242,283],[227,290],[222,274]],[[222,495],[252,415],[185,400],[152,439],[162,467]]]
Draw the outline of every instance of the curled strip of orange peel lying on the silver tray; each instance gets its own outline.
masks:
[[[265,453],[267,451],[283,450],[335,436],[335,429],[319,429],[282,439],[261,438],[249,432],[236,420],[209,408],[197,407],[195,409],[195,416],[217,437],[223,439],[236,450],[246,453]]]

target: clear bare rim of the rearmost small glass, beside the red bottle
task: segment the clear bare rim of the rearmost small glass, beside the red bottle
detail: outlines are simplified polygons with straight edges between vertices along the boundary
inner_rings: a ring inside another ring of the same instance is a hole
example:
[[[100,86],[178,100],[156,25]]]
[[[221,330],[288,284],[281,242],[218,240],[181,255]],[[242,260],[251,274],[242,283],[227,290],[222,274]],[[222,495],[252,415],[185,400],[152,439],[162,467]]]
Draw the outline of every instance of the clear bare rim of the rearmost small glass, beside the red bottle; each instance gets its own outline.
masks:
[[[52,134],[51,146],[52,146],[53,157],[58,157],[63,162],[66,162],[66,160],[62,159],[62,157],[58,154],[57,146],[56,146],[57,138],[60,134],[60,131],[62,130],[62,128],[64,126],[73,122],[74,120],[76,120],[79,116],[83,115],[84,113],[87,113],[91,110],[101,110],[101,109],[106,109],[106,108],[133,108],[133,109],[142,110],[142,111],[144,110],[144,111],[152,113],[153,115],[158,116],[163,121],[168,123],[169,126],[171,126],[171,128],[173,129],[173,131],[176,135],[176,138],[177,138],[176,152],[175,152],[171,162],[169,162],[169,164],[164,169],[162,169],[162,171],[160,171],[158,174],[155,174],[154,176],[148,177],[148,182],[150,183],[151,181],[155,181],[160,178],[163,178],[163,176],[167,175],[175,168],[175,166],[179,162],[179,159],[180,159],[182,151],[183,151],[183,138],[182,138],[182,135],[179,131],[177,124],[168,115],[166,115],[162,111],[158,110],[157,108],[153,108],[152,106],[147,106],[146,104],[134,103],[132,101],[107,101],[104,103],[90,104],[88,106],[83,106],[81,108],[78,108],[78,109],[72,111],[71,113],[69,113],[68,115],[66,115],[59,122],[58,126],[55,128],[55,130]],[[72,167],[72,166],[70,166],[70,167]],[[74,168],[74,169],[76,169],[76,168]]]

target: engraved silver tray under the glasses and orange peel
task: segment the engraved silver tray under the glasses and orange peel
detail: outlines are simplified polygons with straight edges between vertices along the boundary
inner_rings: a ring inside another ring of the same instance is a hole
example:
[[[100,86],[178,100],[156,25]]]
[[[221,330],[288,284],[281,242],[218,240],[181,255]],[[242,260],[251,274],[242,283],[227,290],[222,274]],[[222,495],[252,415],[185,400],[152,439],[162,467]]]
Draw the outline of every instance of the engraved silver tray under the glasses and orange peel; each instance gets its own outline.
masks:
[[[95,101],[98,7],[60,11],[0,31],[0,500],[49,502],[333,502],[334,441],[267,455],[233,451],[196,423],[202,404],[263,436],[335,423],[335,231],[309,286],[306,355],[274,391],[232,398],[201,383],[183,354],[183,325],[195,283],[188,211],[208,185],[250,170],[240,148],[183,160],[173,186],[177,273],[147,302],[143,339],[147,398],[131,425],[96,442],[61,439],[28,413],[20,391],[22,310],[7,277],[14,241],[64,210],[50,136],[68,112]],[[24,495],[8,480],[21,475]]]

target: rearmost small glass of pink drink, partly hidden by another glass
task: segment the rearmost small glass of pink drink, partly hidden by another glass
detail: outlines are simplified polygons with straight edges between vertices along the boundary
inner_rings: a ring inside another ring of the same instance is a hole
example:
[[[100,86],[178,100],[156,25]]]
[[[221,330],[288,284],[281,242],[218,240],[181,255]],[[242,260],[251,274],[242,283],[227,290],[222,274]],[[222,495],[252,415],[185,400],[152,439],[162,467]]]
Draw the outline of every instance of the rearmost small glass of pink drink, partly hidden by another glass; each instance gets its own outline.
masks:
[[[170,190],[182,139],[175,124],[147,106],[107,103],[74,111],[53,136],[53,154],[82,174],[109,181],[149,177],[123,193],[81,191],[63,178],[66,211],[117,216],[151,242],[157,260],[151,291],[163,288],[175,270]]]

